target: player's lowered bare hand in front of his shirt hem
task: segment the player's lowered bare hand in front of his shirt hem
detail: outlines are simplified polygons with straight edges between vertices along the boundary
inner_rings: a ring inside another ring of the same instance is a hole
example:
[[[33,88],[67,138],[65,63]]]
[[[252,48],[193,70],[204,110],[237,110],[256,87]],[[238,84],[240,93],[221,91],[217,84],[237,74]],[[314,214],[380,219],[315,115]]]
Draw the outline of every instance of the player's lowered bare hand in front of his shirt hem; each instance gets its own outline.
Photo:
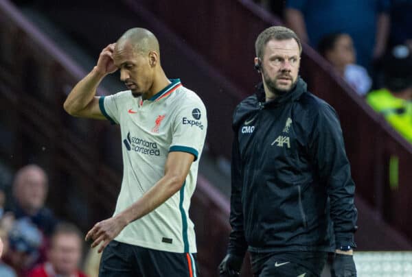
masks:
[[[120,217],[111,217],[100,221],[87,232],[85,240],[88,241],[91,239],[93,241],[91,248],[95,248],[103,241],[98,250],[98,252],[101,253],[108,243],[117,237],[117,234],[119,234],[126,225],[126,222]]]

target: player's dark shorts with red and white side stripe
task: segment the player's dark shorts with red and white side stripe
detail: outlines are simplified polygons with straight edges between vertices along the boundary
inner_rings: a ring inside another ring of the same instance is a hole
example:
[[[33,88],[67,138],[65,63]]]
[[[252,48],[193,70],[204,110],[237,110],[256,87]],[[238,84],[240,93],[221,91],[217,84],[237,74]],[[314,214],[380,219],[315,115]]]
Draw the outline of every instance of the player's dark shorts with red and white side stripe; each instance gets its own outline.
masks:
[[[197,277],[196,254],[174,253],[111,241],[104,248],[100,277]]]

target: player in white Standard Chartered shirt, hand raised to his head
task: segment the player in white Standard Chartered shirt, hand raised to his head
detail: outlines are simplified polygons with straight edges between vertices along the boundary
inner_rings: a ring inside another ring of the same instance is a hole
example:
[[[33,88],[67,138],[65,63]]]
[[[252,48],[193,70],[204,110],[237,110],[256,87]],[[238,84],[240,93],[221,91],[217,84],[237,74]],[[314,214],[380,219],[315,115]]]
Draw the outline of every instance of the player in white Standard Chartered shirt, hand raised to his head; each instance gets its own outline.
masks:
[[[95,96],[119,69],[128,88]],[[203,101],[169,80],[159,42],[133,28],[100,53],[65,101],[70,115],[120,125],[124,174],[113,217],[87,233],[102,252],[100,276],[196,276],[194,224],[188,217],[207,130]]]

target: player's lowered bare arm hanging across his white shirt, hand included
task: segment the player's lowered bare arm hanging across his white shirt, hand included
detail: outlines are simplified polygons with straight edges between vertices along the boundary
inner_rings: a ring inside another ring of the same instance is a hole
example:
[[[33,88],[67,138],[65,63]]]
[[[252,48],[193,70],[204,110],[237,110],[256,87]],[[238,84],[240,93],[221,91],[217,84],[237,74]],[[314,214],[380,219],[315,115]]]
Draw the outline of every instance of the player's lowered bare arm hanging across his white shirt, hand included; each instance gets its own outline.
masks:
[[[86,240],[93,239],[91,247],[94,248],[103,241],[98,251],[102,252],[106,245],[130,222],[147,215],[178,192],[185,182],[194,158],[194,155],[190,153],[170,152],[165,163],[164,176],[155,186],[152,186],[139,200],[122,213],[98,222],[87,233]]]

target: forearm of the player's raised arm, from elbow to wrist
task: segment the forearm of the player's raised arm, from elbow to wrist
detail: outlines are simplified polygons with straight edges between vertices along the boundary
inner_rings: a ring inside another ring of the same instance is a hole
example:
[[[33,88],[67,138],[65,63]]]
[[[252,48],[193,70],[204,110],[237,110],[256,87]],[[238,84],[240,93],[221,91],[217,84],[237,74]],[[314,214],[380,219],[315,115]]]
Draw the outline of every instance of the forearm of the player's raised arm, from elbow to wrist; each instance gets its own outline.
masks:
[[[101,73],[95,67],[71,90],[64,104],[65,110],[70,115],[78,115],[79,112],[84,110],[93,100],[104,76],[104,73]]]

